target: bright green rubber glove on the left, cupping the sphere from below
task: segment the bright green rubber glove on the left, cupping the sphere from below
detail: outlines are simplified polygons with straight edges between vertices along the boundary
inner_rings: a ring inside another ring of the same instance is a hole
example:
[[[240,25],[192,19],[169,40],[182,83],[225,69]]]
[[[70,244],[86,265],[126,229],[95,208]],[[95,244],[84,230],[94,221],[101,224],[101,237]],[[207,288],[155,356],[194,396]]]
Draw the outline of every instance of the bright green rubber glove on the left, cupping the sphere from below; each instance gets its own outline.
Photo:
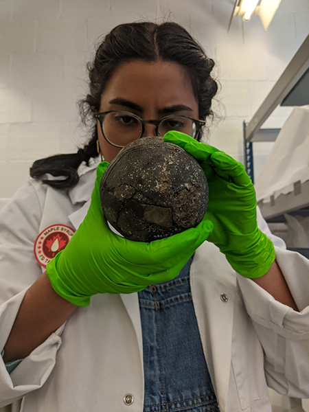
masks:
[[[109,229],[100,202],[100,182],[108,163],[97,168],[87,216],[71,240],[46,266],[58,295],[88,306],[97,293],[133,293],[179,275],[214,225],[203,219],[195,228],[153,242],[133,242]]]

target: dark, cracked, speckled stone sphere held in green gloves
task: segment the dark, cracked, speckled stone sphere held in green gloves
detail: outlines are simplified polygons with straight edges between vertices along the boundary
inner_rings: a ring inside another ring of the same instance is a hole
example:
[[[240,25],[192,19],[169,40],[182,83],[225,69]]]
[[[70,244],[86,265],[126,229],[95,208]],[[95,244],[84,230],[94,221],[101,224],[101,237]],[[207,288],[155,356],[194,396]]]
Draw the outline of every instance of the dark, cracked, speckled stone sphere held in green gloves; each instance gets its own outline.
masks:
[[[208,202],[196,159],[161,137],[126,145],[106,168],[100,199],[108,222],[125,238],[151,242],[201,222]]]

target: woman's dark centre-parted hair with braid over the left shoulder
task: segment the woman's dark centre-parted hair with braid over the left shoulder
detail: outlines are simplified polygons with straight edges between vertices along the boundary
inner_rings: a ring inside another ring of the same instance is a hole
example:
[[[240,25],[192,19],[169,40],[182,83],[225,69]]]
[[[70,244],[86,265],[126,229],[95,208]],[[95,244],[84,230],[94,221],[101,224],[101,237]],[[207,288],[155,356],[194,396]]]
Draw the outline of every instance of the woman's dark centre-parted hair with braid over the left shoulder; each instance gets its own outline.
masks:
[[[89,94],[78,102],[82,122],[89,119],[93,124],[92,138],[77,153],[56,155],[34,161],[30,176],[39,178],[45,173],[65,176],[65,179],[44,183],[59,189],[70,188],[79,181],[78,167],[82,161],[89,165],[89,159],[97,157],[98,132],[92,117],[92,107],[100,108],[100,98],[113,72],[123,62],[130,60],[147,62],[167,61],[181,65],[190,78],[194,95],[198,101],[200,119],[213,117],[211,100],[218,90],[218,84],[211,77],[214,60],[208,58],[194,38],[181,25],[174,22],[161,24],[146,22],[117,25],[99,45],[93,62],[89,62]],[[201,139],[201,134],[198,136]]]

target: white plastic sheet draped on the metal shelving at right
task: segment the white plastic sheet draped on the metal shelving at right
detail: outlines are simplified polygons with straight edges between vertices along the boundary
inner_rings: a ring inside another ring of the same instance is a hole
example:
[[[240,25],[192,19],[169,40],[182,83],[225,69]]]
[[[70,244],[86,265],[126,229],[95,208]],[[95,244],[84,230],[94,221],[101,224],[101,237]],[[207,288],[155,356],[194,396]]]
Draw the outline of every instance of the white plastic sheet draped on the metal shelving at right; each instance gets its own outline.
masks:
[[[255,182],[257,201],[293,192],[294,183],[309,180],[309,105],[293,109],[280,130]]]

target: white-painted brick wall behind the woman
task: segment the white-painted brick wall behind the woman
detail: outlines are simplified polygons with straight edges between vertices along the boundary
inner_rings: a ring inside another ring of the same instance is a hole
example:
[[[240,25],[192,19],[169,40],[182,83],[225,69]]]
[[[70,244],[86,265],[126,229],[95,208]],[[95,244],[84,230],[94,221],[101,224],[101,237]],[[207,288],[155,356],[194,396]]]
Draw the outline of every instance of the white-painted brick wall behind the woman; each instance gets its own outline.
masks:
[[[1,0],[0,208],[28,179],[32,162],[87,141],[76,102],[85,91],[93,44],[119,23],[161,18],[183,24],[217,62],[214,107],[225,119],[209,143],[242,161],[249,121],[308,34],[309,1],[282,0],[268,32],[257,16],[233,19],[231,0]],[[281,127],[278,108],[267,124]],[[255,144],[258,176],[271,144]]]

